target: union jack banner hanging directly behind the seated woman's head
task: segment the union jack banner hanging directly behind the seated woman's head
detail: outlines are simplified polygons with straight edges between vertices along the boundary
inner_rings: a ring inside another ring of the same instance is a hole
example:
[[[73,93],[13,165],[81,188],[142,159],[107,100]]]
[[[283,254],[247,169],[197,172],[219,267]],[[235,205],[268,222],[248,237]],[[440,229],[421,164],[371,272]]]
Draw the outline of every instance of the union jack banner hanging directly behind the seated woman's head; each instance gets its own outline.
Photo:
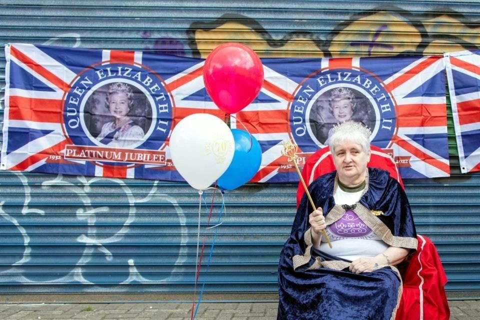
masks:
[[[245,126],[262,147],[261,166],[252,181],[298,180],[280,153],[281,142],[296,142],[302,152],[300,167],[326,145],[332,125],[328,122],[335,121],[326,111],[328,92],[331,96],[334,90],[354,93],[352,119],[355,114],[358,121],[366,117],[372,143],[394,157],[403,178],[449,176],[442,57],[270,58],[262,63],[260,94],[232,119],[232,126]],[[318,134],[313,132],[313,124],[318,124],[315,112],[324,118],[324,130]]]

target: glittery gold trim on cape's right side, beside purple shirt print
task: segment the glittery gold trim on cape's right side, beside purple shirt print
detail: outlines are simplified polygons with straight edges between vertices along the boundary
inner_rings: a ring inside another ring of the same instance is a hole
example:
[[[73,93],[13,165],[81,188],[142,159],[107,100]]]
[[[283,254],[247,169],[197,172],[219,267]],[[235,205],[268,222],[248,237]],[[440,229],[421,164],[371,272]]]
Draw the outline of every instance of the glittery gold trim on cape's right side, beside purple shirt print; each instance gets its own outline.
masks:
[[[390,229],[361,203],[357,202],[353,211],[385,243],[395,247],[416,249],[418,244],[418,240],[416,238],[393,235]]]

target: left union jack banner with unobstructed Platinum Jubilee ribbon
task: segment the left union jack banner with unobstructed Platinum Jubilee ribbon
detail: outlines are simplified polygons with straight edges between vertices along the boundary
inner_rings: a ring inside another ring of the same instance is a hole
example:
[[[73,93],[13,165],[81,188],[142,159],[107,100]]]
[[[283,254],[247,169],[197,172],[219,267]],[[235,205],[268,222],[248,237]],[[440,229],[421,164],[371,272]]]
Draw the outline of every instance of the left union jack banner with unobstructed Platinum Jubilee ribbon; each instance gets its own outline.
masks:
[[[191,113],[223,116],[204,93],[202,59],[32,44],[7,44],[5,56],[1,169],[183,180],[169,157],[171,129]],[[108,153],[92,109],[104,104],[95,92],[104,98],[101,87],[115,83],[146,101],[136,117],[144,135]]]

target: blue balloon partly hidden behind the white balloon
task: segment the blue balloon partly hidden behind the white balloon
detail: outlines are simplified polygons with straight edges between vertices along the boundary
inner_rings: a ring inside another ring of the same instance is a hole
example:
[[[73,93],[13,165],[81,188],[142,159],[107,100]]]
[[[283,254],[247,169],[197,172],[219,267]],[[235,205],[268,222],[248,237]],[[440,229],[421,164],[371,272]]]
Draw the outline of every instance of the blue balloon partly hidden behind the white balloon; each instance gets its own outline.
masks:
[[[224,190],[233,190],[248,182],[258,171],[261,162],[260,144],[253,135],[240,129],[231,129],[231,133],[235,141],[233,159],[217,180],[218,186]]]

